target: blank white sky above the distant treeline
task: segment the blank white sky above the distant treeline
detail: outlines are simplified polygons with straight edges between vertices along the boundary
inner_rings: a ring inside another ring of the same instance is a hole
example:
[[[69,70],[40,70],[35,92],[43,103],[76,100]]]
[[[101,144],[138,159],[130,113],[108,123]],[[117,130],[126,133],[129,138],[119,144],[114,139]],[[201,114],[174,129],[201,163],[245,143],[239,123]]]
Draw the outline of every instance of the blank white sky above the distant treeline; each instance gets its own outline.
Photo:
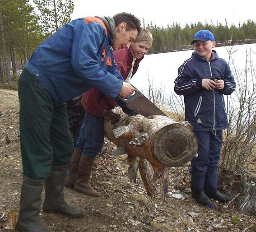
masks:
[[[205,21],[214,25],[222,23],[225,25],[225,19],[228,20],[228,26],[239,22],[246,22],[248,19],[256,23],[255,1],[244,0],[235,3],[235,1],[213,0],[213,1],[189,1],[189,0],[73,0],[74,12],[71,19],[77,19],[85,16],[114,16],[117,13],[127,12],[143,19],[145,24],[152,21],[157,27],[165,27],[168,24],[180,23],[183,28],[186,23]],[[109,4],[107,3],[109,2]]]

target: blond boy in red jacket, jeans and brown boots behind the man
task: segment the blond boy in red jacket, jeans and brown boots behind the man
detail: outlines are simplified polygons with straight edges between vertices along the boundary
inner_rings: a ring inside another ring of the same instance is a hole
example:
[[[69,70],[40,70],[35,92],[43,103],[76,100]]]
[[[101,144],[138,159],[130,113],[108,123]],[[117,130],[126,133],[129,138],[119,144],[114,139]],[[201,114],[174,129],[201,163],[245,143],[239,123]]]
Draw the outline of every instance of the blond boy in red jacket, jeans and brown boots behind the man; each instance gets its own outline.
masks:
[[[114,52],[117,69],[121,75],[130,82],[136,73],[140,61],[152,46],[153,38],[149,30],[141,28],[135,41],[129,49],[120,49]],[[117,103],[100,93],[95,88],[83,94],[82,105],[85,109],[84,123],[74,148],[70,161],[70,169],[65,179],[65,186],[86,195],[101,196],[90,185],[90,176],[96,156],[102,150],[104,142],[104,116],[103,110],[111,110]],[[124,109],[123,109],[124,110]],[[132,115],[134,111],[126,111]]]

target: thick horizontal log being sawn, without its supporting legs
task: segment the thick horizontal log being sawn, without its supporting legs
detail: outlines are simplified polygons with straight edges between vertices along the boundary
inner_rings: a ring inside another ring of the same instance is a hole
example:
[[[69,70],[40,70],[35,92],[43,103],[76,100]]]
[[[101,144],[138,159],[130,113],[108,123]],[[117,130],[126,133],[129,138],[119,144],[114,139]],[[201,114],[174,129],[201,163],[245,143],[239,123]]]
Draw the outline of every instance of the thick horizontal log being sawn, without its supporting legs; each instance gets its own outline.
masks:
[[[156,166],[180,166],[197,152],[193,132],[167,116],[127,116],[115,107],[105,115],[104,131],[116,145]]]

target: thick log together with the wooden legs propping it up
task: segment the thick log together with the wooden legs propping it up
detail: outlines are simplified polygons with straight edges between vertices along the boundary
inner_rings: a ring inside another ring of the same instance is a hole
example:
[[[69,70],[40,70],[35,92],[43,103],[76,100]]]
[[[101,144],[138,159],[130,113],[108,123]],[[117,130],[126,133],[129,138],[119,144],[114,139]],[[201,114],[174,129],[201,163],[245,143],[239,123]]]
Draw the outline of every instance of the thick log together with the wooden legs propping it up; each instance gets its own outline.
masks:
[[[115,107],[105,112],[104,130],[106,137],[119,146],[115,155],[127,153],[130,180],[136,180],[139,168],[147,194],[153,196],[159,192],[156,181],[161,178],[163,200],[168,191],[169,167],[185,164],[196,156],[197,140],[191,129],[167,116],[127,116]]]

